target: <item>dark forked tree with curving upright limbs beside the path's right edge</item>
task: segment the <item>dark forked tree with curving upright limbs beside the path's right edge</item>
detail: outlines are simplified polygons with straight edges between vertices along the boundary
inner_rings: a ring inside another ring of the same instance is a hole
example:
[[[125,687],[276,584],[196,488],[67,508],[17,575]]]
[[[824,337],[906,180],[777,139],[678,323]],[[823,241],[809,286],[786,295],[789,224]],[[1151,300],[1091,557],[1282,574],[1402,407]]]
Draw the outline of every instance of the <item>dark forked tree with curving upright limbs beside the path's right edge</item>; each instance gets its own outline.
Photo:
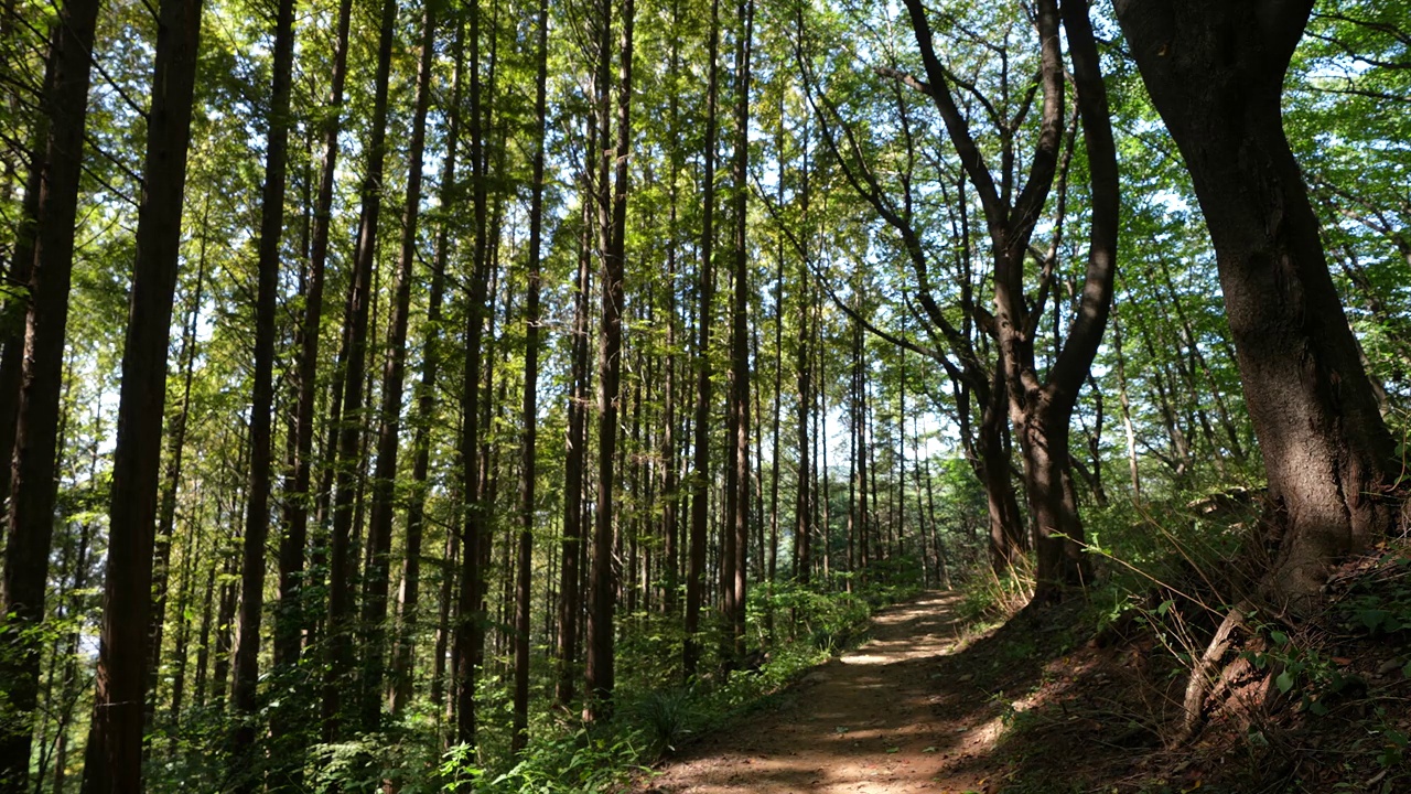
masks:
[[[1041,263],[1046,281],[1038,300],[1024,292],[1024,260],[1044,202],[1060,174],[1062,143],[1064,69],[1060,49],[1060,10],[1055,1],[1041,1],[1036,23],[1041,51],[1040,131],[1030,161],[1029,178],[1010,203],[1007,170],[1003,185],[996,185],[985,164],[969,123],[951,96],[951,79],[935,55],[930,21],[921,3],[907,0],[907,14],[916,32],[921,62],[930,81],[923,92],[935,102],[945,122],[955,153],[967,177],[979,194],[991,237],[995,267],[995,315],[989,333],[999,348],[999,370],[1009,391],[1010,421],[1019,435],[1024,459],[1024,490],[1036,524],[1038,545],[1038,583],[1034,600],[1043,603],[1061,595],[1064,585],[1088,579],[1079,544],[1082,523],[1068,478],[1068,425],[1078,390],[1098,350],[1112,305],[1118,242],[1118,171],[1112,143],[1106,89],[1092,45],[1091,23],[1085,3],[1065,3],[1062,30],[1070,41],[1074,81],[1078,85],[1078,114],[1088,148],[1092,223],[1088,270],[1081,288],[1081,305],[1071,322],[1067,342],[1046,376],[1040,376],[1034,356],[1034,331],[1053,288],[1057,240]],[[1067,179],[1067,162],[1062,165]],[[1060,196],[1062,189],[1060,189]],[[1060,198],[1060,205],[1062,198]],[[1061,209],[1060,209],[1061,218]]]

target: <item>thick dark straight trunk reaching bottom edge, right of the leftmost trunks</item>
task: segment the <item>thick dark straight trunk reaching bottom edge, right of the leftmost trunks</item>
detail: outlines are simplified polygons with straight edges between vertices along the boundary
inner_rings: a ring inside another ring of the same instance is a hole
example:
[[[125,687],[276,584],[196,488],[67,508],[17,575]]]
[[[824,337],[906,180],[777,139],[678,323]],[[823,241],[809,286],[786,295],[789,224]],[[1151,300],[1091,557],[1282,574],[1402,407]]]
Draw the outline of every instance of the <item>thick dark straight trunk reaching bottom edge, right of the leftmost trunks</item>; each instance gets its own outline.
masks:
[[[200,8],[200,0],[164,0],[158,8],[147,162],[137,216],[137,261],[133,267],[117,444],[113,451],[97,697],[83,764],[85,793],[141,790],[152,545],[161,463],[161,445],[151,441],[161,438],[166,400],[166,348],[181,254]]]

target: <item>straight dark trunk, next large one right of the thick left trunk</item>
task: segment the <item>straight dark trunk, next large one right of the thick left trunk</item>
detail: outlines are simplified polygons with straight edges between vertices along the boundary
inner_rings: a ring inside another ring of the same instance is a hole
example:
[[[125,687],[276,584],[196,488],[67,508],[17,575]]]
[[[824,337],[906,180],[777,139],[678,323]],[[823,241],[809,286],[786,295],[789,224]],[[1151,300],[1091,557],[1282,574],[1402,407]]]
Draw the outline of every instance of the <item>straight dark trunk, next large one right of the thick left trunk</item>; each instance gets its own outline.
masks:
[[[289,96],[293,73],[293,0],[279,0],[274,38],[270,137],[260,211],[260,263],[255,297],[255,362],[250,405],[250,490],[246,504],[244,561],[240,569],[240,644],[236,648],[236,733],[231,771],[241,791],[254,791],[251,774],[260,682],[260,622],[264,615],[265,540],[270,537],[271,422],[274,413],[274,336],[284,237],[284,189],[289,160]],[[188,381],[189,383],[189,381]],[[183,422],[185,424],[185,422]],[[157,648],[159,650],[159,648]]]

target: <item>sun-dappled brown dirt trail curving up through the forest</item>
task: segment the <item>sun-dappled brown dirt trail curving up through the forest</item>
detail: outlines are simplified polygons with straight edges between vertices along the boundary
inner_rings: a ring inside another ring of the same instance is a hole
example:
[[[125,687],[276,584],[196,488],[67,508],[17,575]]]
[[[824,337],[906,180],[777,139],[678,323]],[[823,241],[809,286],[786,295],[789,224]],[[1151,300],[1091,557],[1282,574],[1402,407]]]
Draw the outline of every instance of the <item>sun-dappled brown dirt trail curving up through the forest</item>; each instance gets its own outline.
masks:
[[[978,687],[935,680],[957,644],[955,600],[926,593],[878,613],[871,641],[810,672],[780,709],[687,747],[648,791],[985,791],[995,709]]]

